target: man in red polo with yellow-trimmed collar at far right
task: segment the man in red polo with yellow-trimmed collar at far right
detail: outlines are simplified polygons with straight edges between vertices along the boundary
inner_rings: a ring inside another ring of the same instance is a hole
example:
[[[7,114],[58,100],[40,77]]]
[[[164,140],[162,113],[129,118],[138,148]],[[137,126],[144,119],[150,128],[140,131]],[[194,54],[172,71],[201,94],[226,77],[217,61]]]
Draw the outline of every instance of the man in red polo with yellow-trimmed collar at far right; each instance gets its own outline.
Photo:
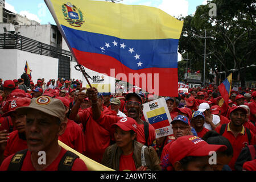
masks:
[[[243,147],[250,144],[256,144],[255,135],[249,129],[243,126],[246,121],[247,110],[241,106],[233,106],[230,109],[231,122],[220,125],[215,130],[220,135],[226,137],[233,146],[234,154],[229,163],[229,167],[235,170],[234,164]]]

